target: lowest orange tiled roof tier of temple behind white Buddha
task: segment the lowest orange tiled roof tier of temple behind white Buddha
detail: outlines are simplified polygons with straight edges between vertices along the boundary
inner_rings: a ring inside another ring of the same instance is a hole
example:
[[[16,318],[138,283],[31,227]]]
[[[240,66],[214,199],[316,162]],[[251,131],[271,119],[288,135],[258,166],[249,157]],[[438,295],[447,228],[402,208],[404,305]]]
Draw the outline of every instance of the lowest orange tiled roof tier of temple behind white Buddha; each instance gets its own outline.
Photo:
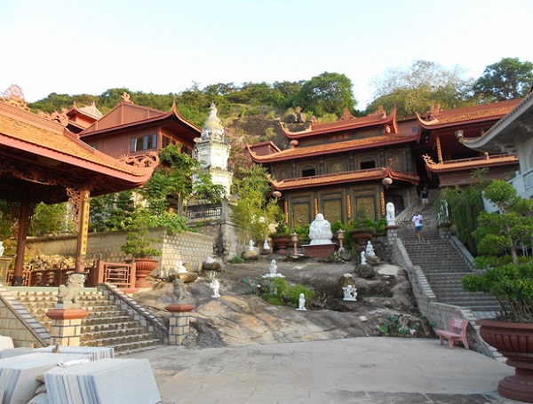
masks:
[[[309,186],[325,186],[346,182],[370,181],[386,178],[387,176],[393,179],[408,181],[412,183],[418,183],[418,181],[420,180],[418,176],[382,167],[370,170],[357,170],[348,172],[338,172],[333,174],[324,174],[314,177],[290,178],[283,179],[281,181],[276,181],[275,179],[272,179],[272,184],[275,189],[287,190],[295,188],[306,188]]]

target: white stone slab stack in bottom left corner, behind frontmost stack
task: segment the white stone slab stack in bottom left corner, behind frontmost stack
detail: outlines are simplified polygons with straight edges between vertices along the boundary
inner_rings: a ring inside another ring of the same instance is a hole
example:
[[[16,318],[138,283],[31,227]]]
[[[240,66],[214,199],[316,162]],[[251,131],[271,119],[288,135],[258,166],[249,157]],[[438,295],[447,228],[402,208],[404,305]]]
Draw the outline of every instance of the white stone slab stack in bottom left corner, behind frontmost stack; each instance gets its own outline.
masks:
[[[26,404],[42,384],[37,376],[60,361],[89,359],[88,355],[71,353],[28,353],[0,360],[0,386],[5,404]]]

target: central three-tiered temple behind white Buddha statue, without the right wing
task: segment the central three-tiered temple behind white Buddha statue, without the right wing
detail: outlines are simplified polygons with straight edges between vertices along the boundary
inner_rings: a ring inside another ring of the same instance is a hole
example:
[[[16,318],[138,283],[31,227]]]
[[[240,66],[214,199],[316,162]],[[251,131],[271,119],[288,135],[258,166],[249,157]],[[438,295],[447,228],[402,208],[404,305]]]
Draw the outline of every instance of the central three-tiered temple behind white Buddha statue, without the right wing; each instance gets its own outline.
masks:
[[[416,198],[413,187],[420,178],[410,147],[418,132],[402,128],[395,109],[362,118],[345,109],[336,123],[314,121],[296,132],[282,123],[282,130],[289,149],[249,151],[254,162],[268,167],[289,226],[306,226],[319,212],[330,222],[381,218],[386,202],[402,210]]]

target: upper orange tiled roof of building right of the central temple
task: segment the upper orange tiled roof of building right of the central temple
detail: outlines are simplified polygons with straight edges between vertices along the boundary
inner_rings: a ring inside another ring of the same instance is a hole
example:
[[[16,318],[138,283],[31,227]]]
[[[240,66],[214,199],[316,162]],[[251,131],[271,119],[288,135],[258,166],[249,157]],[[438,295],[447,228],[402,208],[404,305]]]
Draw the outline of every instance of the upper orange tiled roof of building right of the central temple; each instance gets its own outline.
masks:
[[[426,121],[420,115],[418,120],[424,128],[435,128],[453,123],[465,123],[468,121],[499,119],[516,107],[520,99],[502,101],[494,104],[483,104],[474,107],[465,107],[440,111],[439,115],[431,121]]]

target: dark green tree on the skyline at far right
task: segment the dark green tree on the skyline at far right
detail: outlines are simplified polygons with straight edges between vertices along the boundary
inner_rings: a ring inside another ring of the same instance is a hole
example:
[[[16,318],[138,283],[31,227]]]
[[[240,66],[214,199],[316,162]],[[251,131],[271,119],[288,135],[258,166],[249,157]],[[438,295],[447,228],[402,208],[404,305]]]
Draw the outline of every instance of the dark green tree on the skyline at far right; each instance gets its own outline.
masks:
[[[533,63],[518,58],[502,58],[485,67],[473,84],[476,96],[487,102],[525,97],[533,84]]]

